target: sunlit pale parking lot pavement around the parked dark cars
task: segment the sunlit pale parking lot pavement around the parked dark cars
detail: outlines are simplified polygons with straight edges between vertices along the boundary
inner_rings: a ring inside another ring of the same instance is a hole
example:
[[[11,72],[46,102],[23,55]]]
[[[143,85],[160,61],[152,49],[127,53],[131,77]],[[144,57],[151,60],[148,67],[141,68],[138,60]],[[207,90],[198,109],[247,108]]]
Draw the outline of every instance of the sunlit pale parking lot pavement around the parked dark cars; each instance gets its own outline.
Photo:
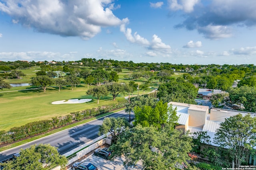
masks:
[[[98,170],[143,170],[142,162],[138,162],[136,166],[133,167],[124,167],[123,161],[124,157],[116,158],[113,160],[105,160],[104,158],[100,156],[95,156],[94,154],[91,154],[82,162],[91,162],[98,168]],[[71,168],[69,169],[71,170]]]

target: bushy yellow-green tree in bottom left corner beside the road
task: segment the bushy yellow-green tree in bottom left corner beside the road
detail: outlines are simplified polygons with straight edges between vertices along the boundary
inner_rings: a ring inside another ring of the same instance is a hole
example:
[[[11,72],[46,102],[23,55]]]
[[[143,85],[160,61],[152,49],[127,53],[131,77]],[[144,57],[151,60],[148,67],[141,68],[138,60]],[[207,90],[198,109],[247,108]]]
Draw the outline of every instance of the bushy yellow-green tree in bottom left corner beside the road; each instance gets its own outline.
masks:
[[[31,145],[30,148],[21,149],[20,156],[3,163],[4,170],[45,170],[54,165],[62,168],[68,163],[66,156],[58,153],[50,144]],[[43,167],[46,164],[46,167]]]

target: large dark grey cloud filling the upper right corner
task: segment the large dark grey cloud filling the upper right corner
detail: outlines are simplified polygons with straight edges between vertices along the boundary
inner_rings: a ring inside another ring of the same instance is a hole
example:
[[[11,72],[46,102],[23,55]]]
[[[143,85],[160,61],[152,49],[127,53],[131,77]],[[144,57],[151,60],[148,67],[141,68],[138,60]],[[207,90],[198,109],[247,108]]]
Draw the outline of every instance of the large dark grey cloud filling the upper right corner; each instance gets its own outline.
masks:
[[[196,29],[208,39],[228,38],[232,36],[230,28],[256,25],[255,0],[168,0],[168,5],[185,18],[176,28]]]

